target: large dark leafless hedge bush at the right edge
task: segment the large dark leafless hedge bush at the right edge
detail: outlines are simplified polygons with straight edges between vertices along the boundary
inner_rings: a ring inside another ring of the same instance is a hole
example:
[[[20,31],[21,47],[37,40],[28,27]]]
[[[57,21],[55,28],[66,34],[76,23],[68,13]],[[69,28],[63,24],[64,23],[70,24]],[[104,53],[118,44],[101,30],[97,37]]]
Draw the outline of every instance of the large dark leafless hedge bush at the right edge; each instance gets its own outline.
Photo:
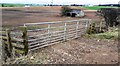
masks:
[[[101,8],[97,11],[97,14],[105,19],[106,27],[117,26],[118,9],[116,8]]]

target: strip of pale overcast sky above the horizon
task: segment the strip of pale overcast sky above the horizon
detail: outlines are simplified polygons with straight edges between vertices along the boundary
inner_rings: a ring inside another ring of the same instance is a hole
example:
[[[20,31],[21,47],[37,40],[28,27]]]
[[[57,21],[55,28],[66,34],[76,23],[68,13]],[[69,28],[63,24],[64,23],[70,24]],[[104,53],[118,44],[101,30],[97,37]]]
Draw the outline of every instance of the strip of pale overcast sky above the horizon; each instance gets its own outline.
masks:
[[[118,4],[120,0],[53,0],[53,4]],[[52,0],[0,0],[0,3],[50,4]]]

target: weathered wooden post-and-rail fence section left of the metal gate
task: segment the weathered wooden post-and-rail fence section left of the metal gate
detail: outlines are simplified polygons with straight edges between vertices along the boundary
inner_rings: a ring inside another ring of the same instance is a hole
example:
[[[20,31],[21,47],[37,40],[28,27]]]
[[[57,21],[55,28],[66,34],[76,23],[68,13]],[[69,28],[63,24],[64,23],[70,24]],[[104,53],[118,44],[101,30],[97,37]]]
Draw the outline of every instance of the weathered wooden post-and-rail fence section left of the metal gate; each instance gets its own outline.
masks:
[[[13,55],[13,51],[15,53],[18,54],[24,54],[26,55],[28,52],[28,43],[27,43],[27,29],[26,27],[19,27],[20,31],[22,31],[22,33],[20,32],[16,32],[16,31],[12,31],[10,29],[6,29],[5,31],[0,31],[1,34],[1,38],[3,40],[2,44],[5,44],[5,47],[7,47],[8,49],[6,49],[7,51],[9,51],[9,53],[11,53],[11,55]],[[21,37],[21,38],[18,38]]]

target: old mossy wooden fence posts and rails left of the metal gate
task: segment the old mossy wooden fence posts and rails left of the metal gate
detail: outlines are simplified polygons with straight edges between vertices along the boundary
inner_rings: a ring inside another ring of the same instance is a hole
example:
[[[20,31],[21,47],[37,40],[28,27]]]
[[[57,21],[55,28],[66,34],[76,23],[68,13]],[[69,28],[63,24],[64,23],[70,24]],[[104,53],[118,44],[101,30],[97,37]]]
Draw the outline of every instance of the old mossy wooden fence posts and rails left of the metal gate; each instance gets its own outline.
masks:
[[[24,52],[24,54],[26,55],[27,52],[28,52],[27,28],[26,27],[20,27],[19,29],[23,33],[23,34],[19,34],[19,35],[22,36],[22,39],[11,36],[11,35],[16,36],[16,33],[14,33],[14,32],[11,33],[11,31],[9,29],[6,29],[6,31],[2,31],[2,33],[4,32],[4,36],[2,35],[0,37],[4,40],[4,44],[6,44],[6,46],[8,48],[6,50],[8,50],[10,54],[12,54],[13,48],[17,47],[17,48],[23,48],[24,50],[16,49],[15,52],[17,52],[19,54]],[[17,42],[20,43],[20,44],[18,44]]]

